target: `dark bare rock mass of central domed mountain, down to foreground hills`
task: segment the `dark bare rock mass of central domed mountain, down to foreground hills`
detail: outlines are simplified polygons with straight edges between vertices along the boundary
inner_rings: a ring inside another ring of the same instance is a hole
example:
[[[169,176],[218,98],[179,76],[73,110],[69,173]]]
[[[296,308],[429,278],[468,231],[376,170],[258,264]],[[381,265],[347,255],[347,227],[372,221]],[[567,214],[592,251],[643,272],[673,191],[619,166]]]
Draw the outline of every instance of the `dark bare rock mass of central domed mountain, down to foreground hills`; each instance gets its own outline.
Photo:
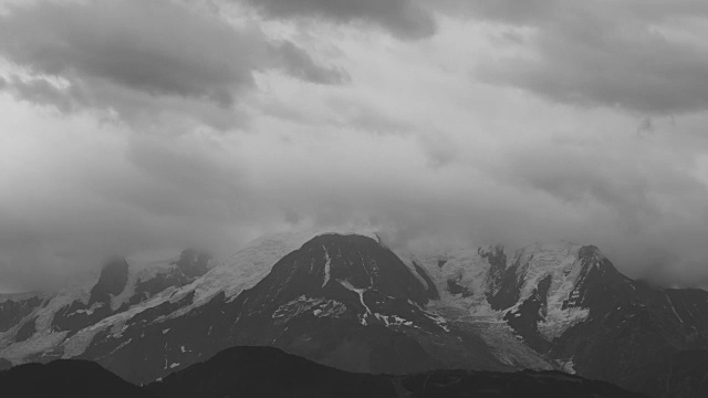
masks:
[[[139,383],[233,345],[271,345],[354,371],[513,369],[424,308],[435,285],[418,272],[373,239],[320,235],[236,298],[219,294],[185,316],[98,335],[83,357]]]

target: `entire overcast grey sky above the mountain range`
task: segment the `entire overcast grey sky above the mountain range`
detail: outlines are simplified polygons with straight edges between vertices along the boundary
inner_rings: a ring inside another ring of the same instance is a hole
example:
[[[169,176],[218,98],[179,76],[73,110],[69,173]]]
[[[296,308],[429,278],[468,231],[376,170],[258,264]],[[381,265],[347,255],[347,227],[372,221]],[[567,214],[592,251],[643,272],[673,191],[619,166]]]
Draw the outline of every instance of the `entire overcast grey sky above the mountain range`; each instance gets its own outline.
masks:
[[[0,291],[343,224],[708,287],[706,36],[704,0],[0,0]]]

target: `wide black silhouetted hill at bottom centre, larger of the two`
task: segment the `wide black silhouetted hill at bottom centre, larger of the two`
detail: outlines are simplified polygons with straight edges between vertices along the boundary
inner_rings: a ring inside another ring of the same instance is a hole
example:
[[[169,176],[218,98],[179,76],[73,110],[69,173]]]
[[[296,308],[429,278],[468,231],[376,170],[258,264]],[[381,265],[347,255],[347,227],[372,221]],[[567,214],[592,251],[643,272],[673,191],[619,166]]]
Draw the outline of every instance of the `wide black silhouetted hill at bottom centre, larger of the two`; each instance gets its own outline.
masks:
[[[561,373],[440,370],[412,376],[353,374],[270,347],[235,347],[147,388],[191,397],[643,397]]]

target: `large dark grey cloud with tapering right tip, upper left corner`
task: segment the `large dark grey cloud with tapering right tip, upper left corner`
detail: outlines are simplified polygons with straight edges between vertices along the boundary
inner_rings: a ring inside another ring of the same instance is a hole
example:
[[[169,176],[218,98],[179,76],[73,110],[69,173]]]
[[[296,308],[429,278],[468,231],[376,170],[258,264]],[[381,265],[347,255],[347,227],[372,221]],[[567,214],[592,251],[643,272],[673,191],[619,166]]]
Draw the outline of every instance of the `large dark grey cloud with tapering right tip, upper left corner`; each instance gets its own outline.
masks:
[[[113,108],[133,121],[186,113],[223,127],[238,123],[230,113],[254,87],[256,71],[320,84],[346,80],[292,42],[169,0],[15,6],[0,27],[0,55],[33,77],[11,81],[12,92],[62,111]]]

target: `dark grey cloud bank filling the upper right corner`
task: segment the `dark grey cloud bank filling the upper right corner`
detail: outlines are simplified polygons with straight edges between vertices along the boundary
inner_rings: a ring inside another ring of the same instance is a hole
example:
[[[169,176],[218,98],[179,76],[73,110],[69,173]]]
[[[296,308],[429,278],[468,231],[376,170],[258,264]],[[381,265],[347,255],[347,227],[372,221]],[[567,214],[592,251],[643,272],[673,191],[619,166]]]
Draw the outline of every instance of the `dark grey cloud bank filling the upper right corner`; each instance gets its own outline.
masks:
[[[456,3],[459,9],[460,3]],[[512,54],[476,75],[552,102],[639,115],[708,109],[708,7],[702,2],[476,0],[473,18],[525,29]]]

